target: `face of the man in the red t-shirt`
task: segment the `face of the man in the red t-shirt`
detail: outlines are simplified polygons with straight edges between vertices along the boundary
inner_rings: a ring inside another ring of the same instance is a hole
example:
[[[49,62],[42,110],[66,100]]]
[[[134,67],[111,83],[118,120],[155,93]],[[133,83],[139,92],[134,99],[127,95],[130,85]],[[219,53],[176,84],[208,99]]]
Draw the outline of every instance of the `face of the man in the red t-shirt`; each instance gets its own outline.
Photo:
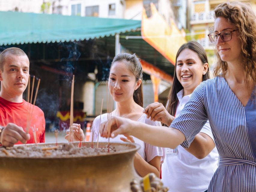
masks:
[[[1,92],[20,96],[25,91],[29,81],[29,59],[27,56],[7,54],[4,71],[0,70]]]

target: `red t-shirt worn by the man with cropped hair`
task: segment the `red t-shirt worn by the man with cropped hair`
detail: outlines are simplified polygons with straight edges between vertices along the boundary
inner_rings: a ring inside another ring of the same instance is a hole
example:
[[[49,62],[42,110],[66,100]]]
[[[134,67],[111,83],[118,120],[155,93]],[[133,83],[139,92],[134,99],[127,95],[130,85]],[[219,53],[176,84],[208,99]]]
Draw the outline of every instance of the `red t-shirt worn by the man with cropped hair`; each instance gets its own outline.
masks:
[[[6,126],[8,123],[14,123],[22,127],[23,130],[26,132],[27,116],[28,116],[28,109],[29,109],[28,107],[31,107],[30,112],[32,113],[33,105],[26,102],[24,99],[22,103],[14,103],[0,97],[0,125]],[[44,143],[45,142],[44,112],[37,106],[34,106],[30,127],[33,127],[36,130],[37,143]],[[35,143],[32,128],[29,129],[29,134],[30,134],[30,140],[28,140],[27,143]],[[18,141],[15,144],[22,144],[22,143]]]

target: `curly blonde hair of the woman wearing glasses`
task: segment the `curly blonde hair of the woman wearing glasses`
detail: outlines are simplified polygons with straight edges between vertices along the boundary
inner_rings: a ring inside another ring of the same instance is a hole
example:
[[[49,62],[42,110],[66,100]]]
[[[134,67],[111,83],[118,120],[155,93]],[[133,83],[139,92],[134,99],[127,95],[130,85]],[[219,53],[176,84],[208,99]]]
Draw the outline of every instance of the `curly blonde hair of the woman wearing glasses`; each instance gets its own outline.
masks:
[[[241,2],[222,3],[214,10],[214,18],[224,17],[238,29],[242,41],[243,67],[246,81],[251,79],[256,83],[256,16],[250,4]],[[221,61],[217,55],[217,64],[214,75],[224,76],[227,72],[227,62]]]

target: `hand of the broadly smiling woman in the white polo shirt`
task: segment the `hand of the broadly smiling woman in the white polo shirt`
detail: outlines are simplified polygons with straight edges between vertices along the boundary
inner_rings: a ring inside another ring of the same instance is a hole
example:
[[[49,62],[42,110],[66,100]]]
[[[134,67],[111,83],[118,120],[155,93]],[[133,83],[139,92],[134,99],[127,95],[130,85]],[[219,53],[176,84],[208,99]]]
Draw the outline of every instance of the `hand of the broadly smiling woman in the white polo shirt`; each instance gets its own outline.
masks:
[[[170,126],[174,117],[171,116],[168,111],[165,109],[163,104],[155,102],[149,104],[144,110],[143,113],[147,115],[147,118],[150,117],[153,121],[160,121],[165,125]]]

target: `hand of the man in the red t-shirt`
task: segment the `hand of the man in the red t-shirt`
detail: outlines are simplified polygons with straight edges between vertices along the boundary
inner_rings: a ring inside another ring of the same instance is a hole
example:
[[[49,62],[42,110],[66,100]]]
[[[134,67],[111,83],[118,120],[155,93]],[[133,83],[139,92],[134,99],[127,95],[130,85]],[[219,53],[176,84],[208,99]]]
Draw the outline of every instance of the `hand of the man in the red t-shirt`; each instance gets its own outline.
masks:
[[[30,134],[27,134],[25,131],[23,131],[22,127],[19,127],[14,123],[9,123],[6,125],[0,136],[0,141],[5,147],[12,147],[18,141],[25,144],[29,139]]]

